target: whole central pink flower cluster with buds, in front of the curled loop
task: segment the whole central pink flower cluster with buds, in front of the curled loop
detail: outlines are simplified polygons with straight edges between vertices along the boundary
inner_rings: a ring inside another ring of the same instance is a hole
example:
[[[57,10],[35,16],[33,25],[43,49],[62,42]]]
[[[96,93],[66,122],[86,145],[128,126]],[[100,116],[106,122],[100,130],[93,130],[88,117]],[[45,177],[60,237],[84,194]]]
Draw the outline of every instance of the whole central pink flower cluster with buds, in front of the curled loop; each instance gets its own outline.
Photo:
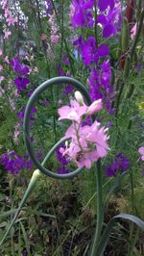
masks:
[[[89,107],[84,104],[84,98],[79,91],[75,92],[76,100],[70,101],[70,106],[59,109],[61,119],[69,119],[72,124],[65,133],[65,149],[60,148],[60,153],[79,167],[90,168],[108,153],[108,129],[100,126],[96,120],[91,125],[82,125],[84,115],[94,115],[103,105],[102,100],[94,101]]]

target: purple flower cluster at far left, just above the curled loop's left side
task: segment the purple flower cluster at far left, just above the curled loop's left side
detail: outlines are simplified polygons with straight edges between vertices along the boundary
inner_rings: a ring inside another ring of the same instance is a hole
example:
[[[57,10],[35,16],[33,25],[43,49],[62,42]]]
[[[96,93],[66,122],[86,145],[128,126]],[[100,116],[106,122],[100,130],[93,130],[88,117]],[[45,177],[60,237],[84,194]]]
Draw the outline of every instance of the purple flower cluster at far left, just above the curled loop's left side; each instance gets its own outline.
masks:
[[[11,62],[13,71],[17,73],[18,77],[14,79],[14,83],[17,87],[17,92],[21,90],[26,90],[27,85],[30,83],[29,78],[27,77],[30,73],[30,68],[25,64],[20,64],[19,58],[15,57]]]

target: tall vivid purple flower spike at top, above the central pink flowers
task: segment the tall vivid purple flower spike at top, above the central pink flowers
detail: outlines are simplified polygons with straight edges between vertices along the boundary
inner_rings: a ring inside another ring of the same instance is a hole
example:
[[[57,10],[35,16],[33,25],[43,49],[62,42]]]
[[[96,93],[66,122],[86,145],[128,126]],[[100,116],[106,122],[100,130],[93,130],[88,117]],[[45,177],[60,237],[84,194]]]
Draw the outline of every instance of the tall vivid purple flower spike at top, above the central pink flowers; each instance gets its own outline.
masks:
[[[120,30],[121,4],[119,0],[97,1],[97,24],[95,24],[94,1],[73,0],[70,6],[70,19],[72,26],[99,27],[103,38],[110,38]],[[89,35],[89,33],[88,33]],[[103,99],[109,114],[113,113],[113,88],[110,85],[111,67],[109,63],[108,45],[98,45],[98,38],[93,35],[84,39],[82,36],[75,39],[73,44],[78,47],[85,66],[90,67],[89,93],[92,100]],[[107,61],[104,60],[107,57]],[[112,98],[111,98],[112,95]]]

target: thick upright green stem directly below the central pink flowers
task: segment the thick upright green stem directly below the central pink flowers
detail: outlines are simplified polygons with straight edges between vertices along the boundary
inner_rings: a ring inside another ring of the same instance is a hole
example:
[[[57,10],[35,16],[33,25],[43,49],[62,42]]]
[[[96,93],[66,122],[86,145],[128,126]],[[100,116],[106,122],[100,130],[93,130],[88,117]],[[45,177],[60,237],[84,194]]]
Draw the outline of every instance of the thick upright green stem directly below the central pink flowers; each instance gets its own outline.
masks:
[[[103,191],[102,191],[102,177],[101,177],[101,162],[97,162],[97,225],[94,234],[92,249],[90,256],[96,256],[98,245],[101,238],[103,226]]]

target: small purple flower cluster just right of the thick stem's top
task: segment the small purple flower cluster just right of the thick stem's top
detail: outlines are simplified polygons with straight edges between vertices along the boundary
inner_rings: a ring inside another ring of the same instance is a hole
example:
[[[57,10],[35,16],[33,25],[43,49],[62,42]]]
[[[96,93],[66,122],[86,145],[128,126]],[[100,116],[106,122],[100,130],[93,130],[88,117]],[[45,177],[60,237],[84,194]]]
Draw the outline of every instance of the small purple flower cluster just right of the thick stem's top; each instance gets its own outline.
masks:
[[[106,168],[108,177],[116,176],[119,171],[126,171],[129,165],[130,161],[124,154],[117,154],[113,163]]]

